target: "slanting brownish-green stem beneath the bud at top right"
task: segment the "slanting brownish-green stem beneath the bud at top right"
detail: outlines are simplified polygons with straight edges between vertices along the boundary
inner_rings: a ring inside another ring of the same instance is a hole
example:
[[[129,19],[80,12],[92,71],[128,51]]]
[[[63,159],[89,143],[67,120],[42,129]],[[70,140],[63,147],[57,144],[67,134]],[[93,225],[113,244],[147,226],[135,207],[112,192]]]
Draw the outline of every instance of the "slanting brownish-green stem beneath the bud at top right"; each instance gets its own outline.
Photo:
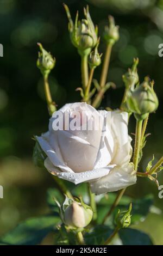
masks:
[[[107,78],[108,69],[109,69],[110,56],[111,56],[111,50],[112,50],[112,44],[108,44],[106,47],[104,63],[103,63],[101,78],[100,78],[100,82],[99,82],[99,85],[101,87],[104,87],[105,83],[106,83],[106,78]]]

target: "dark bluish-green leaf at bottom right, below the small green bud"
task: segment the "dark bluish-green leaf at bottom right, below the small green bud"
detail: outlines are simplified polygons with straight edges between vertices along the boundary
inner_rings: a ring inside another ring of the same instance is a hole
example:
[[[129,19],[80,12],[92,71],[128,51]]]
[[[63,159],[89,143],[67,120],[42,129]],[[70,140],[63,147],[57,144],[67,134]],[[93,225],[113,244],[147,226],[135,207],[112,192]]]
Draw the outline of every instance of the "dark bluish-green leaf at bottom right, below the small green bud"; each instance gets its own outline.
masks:
[[[140,230],[124,228],[119,231],[123,245],[153,245],[151,238]]]

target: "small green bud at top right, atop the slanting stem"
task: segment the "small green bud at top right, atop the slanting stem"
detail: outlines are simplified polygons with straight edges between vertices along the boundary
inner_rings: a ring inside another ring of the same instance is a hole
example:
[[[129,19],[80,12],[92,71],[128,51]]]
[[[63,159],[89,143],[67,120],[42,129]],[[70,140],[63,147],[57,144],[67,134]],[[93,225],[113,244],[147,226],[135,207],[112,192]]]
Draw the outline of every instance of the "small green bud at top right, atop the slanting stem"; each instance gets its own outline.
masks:
[[[119,27],[115,26],[114,17],[109,16],[109,26],[105,26],[103,38],[107,44],[114,45],[120,38]]]

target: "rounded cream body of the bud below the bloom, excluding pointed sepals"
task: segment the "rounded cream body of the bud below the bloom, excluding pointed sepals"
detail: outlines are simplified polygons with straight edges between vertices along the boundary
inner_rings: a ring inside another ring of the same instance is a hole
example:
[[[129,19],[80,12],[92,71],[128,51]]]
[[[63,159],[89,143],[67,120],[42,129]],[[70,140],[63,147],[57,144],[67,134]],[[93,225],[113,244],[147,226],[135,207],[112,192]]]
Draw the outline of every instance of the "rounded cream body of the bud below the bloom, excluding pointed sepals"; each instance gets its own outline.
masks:
[[[85,209],[82,204],[73,202],[64,212],[65,224],[74,228],[84,228],[92,220],[93,212]]]

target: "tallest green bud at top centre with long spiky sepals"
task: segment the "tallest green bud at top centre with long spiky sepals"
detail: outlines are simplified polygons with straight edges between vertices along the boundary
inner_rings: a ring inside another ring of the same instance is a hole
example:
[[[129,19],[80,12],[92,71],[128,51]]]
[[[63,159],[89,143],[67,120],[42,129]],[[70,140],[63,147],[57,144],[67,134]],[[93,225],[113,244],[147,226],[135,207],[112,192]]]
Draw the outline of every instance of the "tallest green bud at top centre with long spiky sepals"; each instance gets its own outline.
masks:
[[[64,4],[66,14],[68,17],[68,31],[70,32],[70,38],[72,44],[77,47],[80,55],[89,54],[91,49],[97,44],[97,27],[93,25],[89,7],[87,5],[86,9],[84,8],[85,19],[78,21],[78,12],[76,15],[76,20],[73,22],[70,14],[70,10],[67,5]]]

